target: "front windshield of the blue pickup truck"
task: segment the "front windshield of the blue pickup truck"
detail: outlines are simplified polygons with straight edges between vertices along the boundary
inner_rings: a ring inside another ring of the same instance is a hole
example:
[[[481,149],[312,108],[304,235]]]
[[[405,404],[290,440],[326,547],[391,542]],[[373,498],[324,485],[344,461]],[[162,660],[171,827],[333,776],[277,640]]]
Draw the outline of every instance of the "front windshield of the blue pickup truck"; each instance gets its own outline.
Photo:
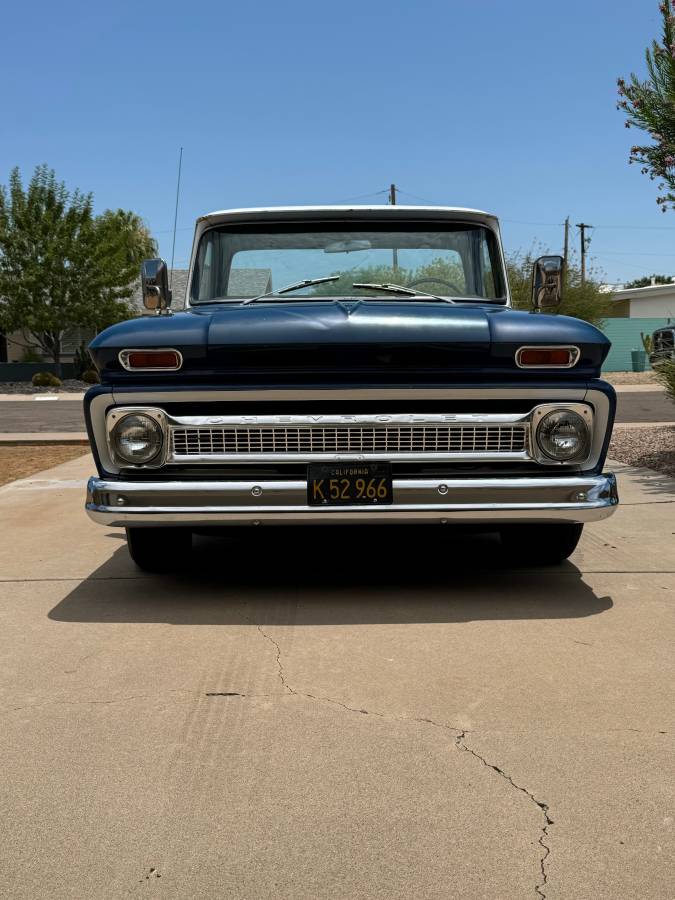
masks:
[[[192,303],[235,301],[272,294],[294,282],[334,276],[288,298],[378,296],[354,283],[396,284],[424,294],[463,300],[505,296],[495,235],[482,225],[443,228],[406,224],[367,230],[213,228],[202,235],[192,277]],[[391,293],[379,292],[392,300]],[[282,297],[279,297],[281,300]],[[428,299],[428,298],[427,298]]]

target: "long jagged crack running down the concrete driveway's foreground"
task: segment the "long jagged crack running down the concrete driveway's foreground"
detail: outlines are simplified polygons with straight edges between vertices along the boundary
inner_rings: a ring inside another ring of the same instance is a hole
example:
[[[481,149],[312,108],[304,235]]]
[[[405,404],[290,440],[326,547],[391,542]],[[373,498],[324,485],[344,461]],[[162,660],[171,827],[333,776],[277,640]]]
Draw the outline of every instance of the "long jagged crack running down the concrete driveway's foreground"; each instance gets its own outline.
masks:
[[[408,716],[391,716],[391,715],[387,715],[386,713],[374,712],[374,711],[371,711],[368,709],[360,709],[355,706],[348,706],[346,703],[343,703],[341,700],[335,700],[332,697],[319,697],[319,696],[316,696],[315,694],[309,694],[304,691],[295,690],[294,688],[292,688],[290,686],[290,684],[288,683],[288,681],[286,679],[286,674],[284,672],[284,667],[283,667],[283,664],[281,661],[281,647],[279,646],[279,643],[277,641],[275,641],[274,638],[272,638],[269,634],[267,634],[267,632],[264,630],[262,625],[256,625],[256,628],[258,629],[258,631],[260,632],[262,637],[264,637],[266,641],[268,641],[270,644],[272,644],[274,646],[274,648],[276,650],[276,664],[277,664],[277,670],[279,673],[279,680],[281,681],[282,685],[284,686],[284,689],[289,694],[292,694],[294,697],[306,697],[309,700],[319,701],[322,703],[332,703],[336,706],[342,707],[342,709],[348,710],[349,712],[361,713],[362,715],[366,715],[366,716],[377,716],[380,719],[386,719],[388,721],[394,721],[394,722],[417,722],[419,724],[431,725],[434,728],[442,728],[445,731],[450,731],[454,734],[454,746],[458,750],[460,750],[464,753],[471,754],[471,756],[473,756],[477,760],[479,760],[479,762],[483,766],[485,766],[486,769],[491,769],[493,772],[496,772],[497,775],[499,775],[500,778],[503,778],[505,781],[507,781],[511,785],[512,788],[514,788],[519,793],[524,794],[531,803],[534,803],[535,806],[538,808],[538,810],[544,817],[544,825],[541,828],[541,834],[539,835],[539,839],[537,841],[539,846],[542,848],[542,853],[540,854],[540,859],[539,859],[539,868],[540,868],[540,872],[541,872],[541,877],[536,882],[536,884],[534,886],[534,890],[535,890],[535,893],[537,894],[537,896],[539,898],[541,898],[541,900],[546,900],[545,888],[546,888],[546,885],[548,884],[548,873],[546,871],[546,861],[547,861],[548,857],[551,855],[551,848],[546,843],[546,841],[549,837],[548,829],[551,825],[553,825],[553,819],[549,815],[549,806],[547,803],[544,803],[543,800],[538,800],[531,791],[528,791],[527,788],[524,788],[521,785],[517,784],[513,780],[513,778],[507,772],[505,772],[502,768],[494,765],[493,763],[489,763],[484,757],[482,757],[480,755],[480,753],[477,753],[475,750],[473,750],[471,747],[469,747],[466,743],[466,735],[470,734],[471,732],[466,728],[457,728],[454,725],[446,725],[443,722],[436,722],[433,719],[416,718],[416,717],[408,717]]]

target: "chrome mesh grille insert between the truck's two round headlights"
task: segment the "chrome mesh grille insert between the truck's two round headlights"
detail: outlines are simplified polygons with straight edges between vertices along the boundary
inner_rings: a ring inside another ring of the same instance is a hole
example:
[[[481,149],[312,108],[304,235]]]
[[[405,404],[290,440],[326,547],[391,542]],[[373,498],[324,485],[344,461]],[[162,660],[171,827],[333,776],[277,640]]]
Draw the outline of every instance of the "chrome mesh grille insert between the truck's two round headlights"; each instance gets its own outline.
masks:
[[[526,423],[173,427],[174,457],[524,454]]]

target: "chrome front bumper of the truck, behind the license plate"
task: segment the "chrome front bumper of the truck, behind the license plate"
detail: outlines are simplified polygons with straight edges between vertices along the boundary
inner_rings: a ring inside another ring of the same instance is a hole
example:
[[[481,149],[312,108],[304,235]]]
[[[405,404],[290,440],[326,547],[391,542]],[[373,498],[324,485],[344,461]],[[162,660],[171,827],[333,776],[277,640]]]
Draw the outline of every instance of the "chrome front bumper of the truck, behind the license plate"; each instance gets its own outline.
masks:
[[[305,481],[115,481],[90,478],[86,509],[108,526],[386,522],[593,522],[619,502],[612,474],[394,479],[388,506],[310,507]]]

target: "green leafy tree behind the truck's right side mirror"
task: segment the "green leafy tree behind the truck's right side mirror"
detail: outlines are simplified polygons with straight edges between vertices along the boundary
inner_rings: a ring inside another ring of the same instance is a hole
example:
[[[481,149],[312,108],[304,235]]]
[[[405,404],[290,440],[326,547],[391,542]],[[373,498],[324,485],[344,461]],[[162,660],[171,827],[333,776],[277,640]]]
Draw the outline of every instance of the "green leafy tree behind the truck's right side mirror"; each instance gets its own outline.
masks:
[[[542,251],[543,252],[543,251]],[[541,255],[537,253],[537,256]],[[511,287],[511,300],[516,309],[532,309],[532,253],[507,254],[506,268]],[[600,325],[612,314],[612,296],[600,290],[600,283],[591,273],[581,283],[581,270],[574,261],[568,261],[565,273],[563,299],[555,312],[584,319],[592,325]]]

